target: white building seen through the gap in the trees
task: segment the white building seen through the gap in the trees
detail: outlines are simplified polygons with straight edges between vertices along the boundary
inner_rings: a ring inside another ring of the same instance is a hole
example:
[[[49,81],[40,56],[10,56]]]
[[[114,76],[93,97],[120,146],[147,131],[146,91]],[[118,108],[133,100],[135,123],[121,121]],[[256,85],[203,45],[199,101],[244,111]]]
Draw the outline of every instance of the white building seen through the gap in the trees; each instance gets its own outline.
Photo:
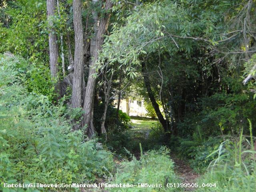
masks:
[[[114,100],[115,107],[117,108],[118,100]],[[120,110],[129,116],[146,116],[146,109],[143,100],[121,99]]]

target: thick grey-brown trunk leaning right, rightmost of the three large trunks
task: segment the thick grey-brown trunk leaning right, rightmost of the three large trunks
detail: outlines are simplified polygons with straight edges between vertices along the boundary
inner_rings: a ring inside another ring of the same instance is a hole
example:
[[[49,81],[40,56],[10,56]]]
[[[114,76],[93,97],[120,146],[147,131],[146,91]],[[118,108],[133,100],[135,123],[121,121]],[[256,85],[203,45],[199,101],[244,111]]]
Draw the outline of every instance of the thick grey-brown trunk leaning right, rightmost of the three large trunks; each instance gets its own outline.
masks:
[[[98,2],[98,0],[93,0],[94,3]],[[109,10],[112,8],[113,4],[111,0],[106,0],[105,4],[105,10],[106,14],[100,19],[100,22],[98,20],[98,16],[96,12],[93,12],[94,17],[94,32],[95,37],[91,40],[91,59],[89,63],[89,72],[88,72],[88,81],[86,86],[86,92],[84,96],[84,124],[87,124],[88,128],[86,130],[88,136],[92,136],[94,134],[94,126],[93,126],[93,98],[94,98],[94,88],[96,84],[96,78],[93,76],[93,74],[96,73],[95,65],[98,59],[98,51],[102,48],[103,40],[104,40],[104,34],[106,33],[106,30],[108,28],[108,22],[110,19],[110,12]]]

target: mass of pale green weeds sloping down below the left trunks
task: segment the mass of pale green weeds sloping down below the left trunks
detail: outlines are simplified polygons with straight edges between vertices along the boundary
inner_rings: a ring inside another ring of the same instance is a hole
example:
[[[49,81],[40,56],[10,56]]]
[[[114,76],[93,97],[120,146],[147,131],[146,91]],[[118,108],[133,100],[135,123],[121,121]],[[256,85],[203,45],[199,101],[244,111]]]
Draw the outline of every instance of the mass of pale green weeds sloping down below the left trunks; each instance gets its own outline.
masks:
[[[97,139],[86,141],[84,130],[71,131],[68,117],[74,112],[64,99],[54,106],[48,97],[28,92],[15,59],[0,60],[0,190],[4,182],[70,184],[107,177],[112,154]]]

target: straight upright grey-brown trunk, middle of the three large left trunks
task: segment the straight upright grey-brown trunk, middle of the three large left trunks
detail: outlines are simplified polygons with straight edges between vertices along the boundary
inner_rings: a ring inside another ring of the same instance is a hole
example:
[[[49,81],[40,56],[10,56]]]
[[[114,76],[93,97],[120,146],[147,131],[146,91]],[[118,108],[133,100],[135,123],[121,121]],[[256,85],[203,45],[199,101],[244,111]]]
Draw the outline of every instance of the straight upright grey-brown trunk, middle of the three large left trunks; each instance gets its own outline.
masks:
[[[78,108],[82,103],[82,70],[83,70],[83,26],[81,0],[73,0],[75,54],[72,82],[71,107]]]

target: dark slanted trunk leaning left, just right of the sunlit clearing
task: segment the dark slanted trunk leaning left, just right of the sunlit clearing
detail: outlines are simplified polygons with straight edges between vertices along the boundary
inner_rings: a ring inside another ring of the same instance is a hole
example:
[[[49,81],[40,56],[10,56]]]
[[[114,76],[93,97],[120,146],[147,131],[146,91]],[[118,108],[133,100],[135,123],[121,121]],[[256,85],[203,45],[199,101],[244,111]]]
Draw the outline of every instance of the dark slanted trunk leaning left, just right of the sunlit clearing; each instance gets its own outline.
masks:
[[[164,119],[160,109],[159,109],[159,105],[156,102],[156,99],[154,97],[154,94],[152,92],[151,89],[151,85],[150,85],[150,80],[147,74],[147,69],[146,69],[146,64],[144,62],[141,63],[142,66],[142,73],[143,73],[143,78],[144,78],[144,83],[146,85],[146,89],[148,92],[148,97],[150,98],[150,101],[152,103],[152,106],[156,112],[156,115],[158,117],[158,120],[160,121],[160,123],[162,124],[162,126],[164,127],[164,130],[167,131],[168,130],[168,122],[166,122],[167,120]]]

